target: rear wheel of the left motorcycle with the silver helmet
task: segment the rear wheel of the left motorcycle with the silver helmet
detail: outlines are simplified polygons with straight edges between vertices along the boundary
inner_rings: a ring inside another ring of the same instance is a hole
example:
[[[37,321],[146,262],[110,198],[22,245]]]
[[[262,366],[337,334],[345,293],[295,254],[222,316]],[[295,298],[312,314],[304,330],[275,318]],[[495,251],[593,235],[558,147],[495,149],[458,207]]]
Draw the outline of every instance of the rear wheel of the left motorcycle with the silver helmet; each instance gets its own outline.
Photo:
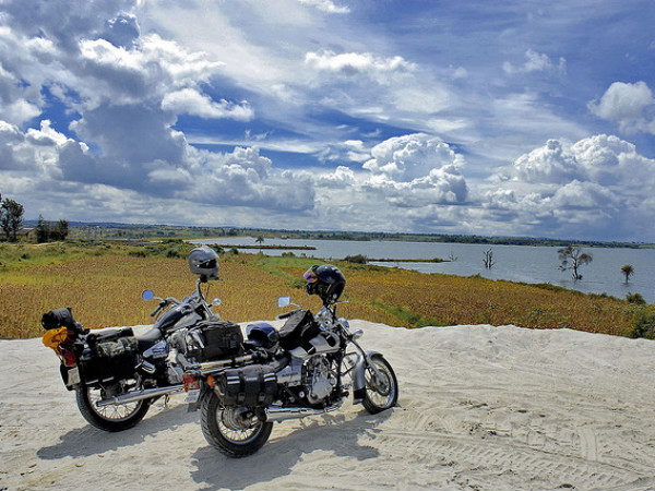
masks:
[[[103,399],[102,388],[80,384],[76,388],[80,412],[90,424],[104,431],[122,431],[134,427],[150,409],[150,399],[127,404],[97,406]]]

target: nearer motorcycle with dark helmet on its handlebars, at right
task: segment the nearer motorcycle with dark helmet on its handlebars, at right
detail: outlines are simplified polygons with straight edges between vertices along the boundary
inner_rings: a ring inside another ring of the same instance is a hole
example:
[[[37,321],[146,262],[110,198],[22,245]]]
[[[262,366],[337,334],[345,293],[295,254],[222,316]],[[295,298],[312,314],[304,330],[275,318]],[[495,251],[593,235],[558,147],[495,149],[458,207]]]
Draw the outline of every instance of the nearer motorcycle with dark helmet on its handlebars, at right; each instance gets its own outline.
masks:
[[[398,397],[396,375],[386,359],[365,350],[336,315],[345,278],[332,265],[314,266],[305,277],[307,291],[323,307],[313,314],[281,297],[278,307],[296,310],[277,331],[269,323],[247,326],[240,357],[190,363],[184,372],[189,400],[201,409],[206,441],[230,457],[250,455],[267,441],[273,423],[332,412],[353,391],[354,404],[377,414]],[[348,347],[354,346],[354,351]]]

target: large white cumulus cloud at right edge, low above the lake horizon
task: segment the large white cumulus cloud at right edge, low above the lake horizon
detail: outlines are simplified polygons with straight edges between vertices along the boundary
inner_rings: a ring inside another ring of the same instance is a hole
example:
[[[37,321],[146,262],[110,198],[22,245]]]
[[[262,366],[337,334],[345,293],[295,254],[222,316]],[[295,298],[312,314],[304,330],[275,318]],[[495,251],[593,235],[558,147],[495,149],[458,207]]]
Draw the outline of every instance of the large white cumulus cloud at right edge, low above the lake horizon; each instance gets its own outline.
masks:
[[[480,189],[486,218],[514,233],[626,239],[655,216],[655,160],[614,135],[549,140],[496,177]]]

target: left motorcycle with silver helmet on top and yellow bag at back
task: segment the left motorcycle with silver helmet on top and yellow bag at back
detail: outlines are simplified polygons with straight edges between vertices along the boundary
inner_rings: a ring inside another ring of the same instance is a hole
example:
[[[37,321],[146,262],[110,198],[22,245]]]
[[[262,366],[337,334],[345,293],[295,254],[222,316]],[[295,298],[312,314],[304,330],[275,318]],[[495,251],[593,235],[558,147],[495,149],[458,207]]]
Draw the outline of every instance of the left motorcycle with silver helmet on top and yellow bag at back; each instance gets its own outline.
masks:
[[[155,297],[150,289],[142,294],[144,300],[159,303],[151,313],[155,324],[141,335],[132,327],[83,328],[71,308],[43,315],[43,342],[58,355],[63,384],[75,391],[80,412],[92,426],[105,431],[132,428],[156,399],[184,390],[189,362],[238,355],[243,340],[239,325],[221,321],[212,312],[221,300],[207,303],[201,290],[216,277],[217,258],[210,248],[191,251],[190,270],[199,278],[195,291],[181,301]],[[219,343],[214,343],[217,332]]]

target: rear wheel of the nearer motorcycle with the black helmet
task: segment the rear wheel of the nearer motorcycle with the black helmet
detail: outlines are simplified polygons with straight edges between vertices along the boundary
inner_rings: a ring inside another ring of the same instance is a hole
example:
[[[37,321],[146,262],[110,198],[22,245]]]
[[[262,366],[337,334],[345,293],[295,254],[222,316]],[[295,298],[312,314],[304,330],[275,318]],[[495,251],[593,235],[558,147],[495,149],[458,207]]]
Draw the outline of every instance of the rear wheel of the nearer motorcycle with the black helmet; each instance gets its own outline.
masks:
[[[228,457],[245,457],[262,447],[273,423],[261,421],[248,408],[224,407],[212,391],[201,403],[200,423],[205,440]]]

